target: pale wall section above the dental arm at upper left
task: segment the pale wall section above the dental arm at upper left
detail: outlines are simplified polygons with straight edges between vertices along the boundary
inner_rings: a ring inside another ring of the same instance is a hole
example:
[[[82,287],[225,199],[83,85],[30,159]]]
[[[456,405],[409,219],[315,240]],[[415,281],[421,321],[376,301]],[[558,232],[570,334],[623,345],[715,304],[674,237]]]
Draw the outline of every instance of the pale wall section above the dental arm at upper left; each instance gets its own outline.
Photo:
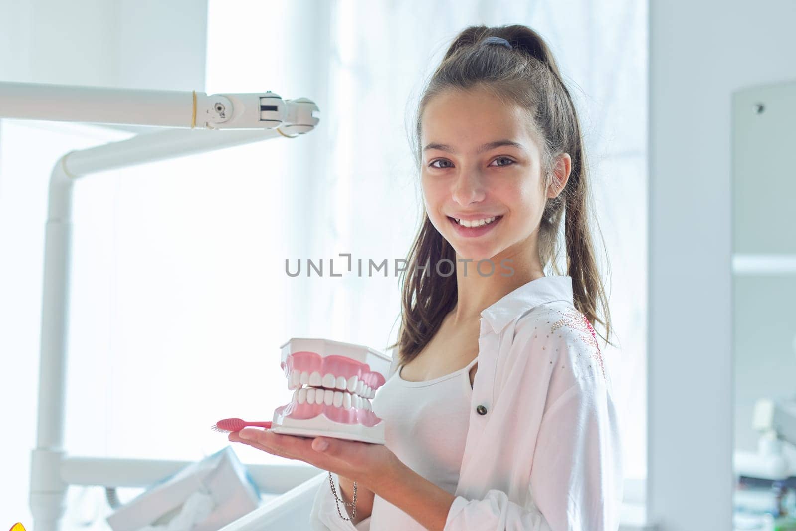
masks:
[[[204,90],[207,0],[0,0],[0,80]]]

